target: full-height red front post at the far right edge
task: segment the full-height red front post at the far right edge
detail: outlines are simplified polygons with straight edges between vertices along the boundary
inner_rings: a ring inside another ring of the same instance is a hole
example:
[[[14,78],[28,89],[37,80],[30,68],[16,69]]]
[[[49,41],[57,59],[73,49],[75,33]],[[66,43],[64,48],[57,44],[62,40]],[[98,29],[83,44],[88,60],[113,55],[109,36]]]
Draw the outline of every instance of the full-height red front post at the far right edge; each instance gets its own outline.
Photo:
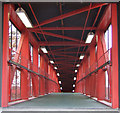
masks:
[[[112,108],[118,108],[118,31],[117,5],[112,4]]]

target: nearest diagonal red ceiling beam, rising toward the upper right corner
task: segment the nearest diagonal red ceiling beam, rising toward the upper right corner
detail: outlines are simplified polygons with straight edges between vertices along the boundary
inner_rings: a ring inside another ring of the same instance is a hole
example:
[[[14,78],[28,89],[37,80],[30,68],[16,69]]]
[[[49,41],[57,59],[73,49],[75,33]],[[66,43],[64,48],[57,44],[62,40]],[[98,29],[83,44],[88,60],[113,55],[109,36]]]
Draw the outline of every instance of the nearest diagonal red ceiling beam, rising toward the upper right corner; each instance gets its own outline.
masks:
[[[108,3],[99,3],[99,4],[94,4],[91,9],[95,9],[95,8],[98,8],[100,6],[103,6],[103,5],[107,5]],[[74,11],[71,11],[69,13],[66,13],[66,14],[62,14],[60,16],[57,16],[57,17],[53,17],[53,18],[50,18],[48,20],[45,20],[43,22],[41,22],[41,24],[39,25],[36,25],[34,27],[38,27],[38,26],[43,26],[45,24],[48,24],[48,23],[52,23],[52,22],[55,22],[55,21],[58,21],[58,20],[61,20],[61,19],[64,19],[64,18],[67,18],[67,17],[71,17],[73,15],[77,15],[77,14],[80,14],[82,12],[85,12],[85,11],[88,11],[90,8],[89,6],[86,6],[86,7],[83,7],[81,9],[77,9],[77,10],[74,10]]]

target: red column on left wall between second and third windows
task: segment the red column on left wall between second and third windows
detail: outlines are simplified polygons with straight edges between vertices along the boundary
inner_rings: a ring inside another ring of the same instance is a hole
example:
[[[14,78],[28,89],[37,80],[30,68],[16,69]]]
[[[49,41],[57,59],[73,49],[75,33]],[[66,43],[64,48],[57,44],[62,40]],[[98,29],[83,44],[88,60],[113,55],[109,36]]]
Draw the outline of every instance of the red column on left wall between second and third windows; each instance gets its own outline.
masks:
[[[33,46],[33,71],[38,72],[38,48]],[[33,79],[33,95],[38,97],[39,95],[39,79],[38,76],[32,77]]]

